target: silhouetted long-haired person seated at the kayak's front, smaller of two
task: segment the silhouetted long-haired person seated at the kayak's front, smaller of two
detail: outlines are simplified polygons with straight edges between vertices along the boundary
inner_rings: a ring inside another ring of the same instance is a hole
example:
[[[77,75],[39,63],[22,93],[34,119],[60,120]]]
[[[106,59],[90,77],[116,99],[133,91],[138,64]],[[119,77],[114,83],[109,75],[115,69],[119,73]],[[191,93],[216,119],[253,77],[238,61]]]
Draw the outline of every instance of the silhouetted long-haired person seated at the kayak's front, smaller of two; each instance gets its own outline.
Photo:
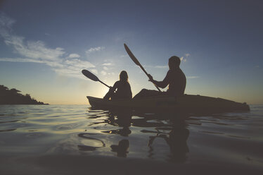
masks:
[[[116,92],[115,92],[116,90]],[[128,81],[128,73],[122,71],[120,73],[120,80],[116,81],[113,87],[110,87],[110,90],[103,97],[103,99],[131,99],[131,85]]]

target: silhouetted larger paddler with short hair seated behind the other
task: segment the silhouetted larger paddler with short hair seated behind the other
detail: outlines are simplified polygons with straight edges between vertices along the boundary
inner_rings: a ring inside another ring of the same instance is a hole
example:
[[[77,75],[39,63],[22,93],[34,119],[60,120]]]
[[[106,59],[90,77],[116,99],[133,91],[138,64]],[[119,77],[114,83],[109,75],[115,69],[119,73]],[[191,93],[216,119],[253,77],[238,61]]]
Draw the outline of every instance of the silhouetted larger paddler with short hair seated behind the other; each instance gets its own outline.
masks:
[[[181,71],[179,67],[181,60],[178,56],[172,56],[169,58],[169,71],[165,76],[165,79],[162,81],[153,80],[153,76],[149,74],[149,81],[153,82],[158,87],[165,88],[168,85],[167,92],[159,92],[157,90],[146,90],[143,89],[134,98],[138,97],[148,97],[154,95],[167,95],[172,97],[178,97],[180,95],[184,95],[184,90],[186,89],[186,76],[184,72]]]

